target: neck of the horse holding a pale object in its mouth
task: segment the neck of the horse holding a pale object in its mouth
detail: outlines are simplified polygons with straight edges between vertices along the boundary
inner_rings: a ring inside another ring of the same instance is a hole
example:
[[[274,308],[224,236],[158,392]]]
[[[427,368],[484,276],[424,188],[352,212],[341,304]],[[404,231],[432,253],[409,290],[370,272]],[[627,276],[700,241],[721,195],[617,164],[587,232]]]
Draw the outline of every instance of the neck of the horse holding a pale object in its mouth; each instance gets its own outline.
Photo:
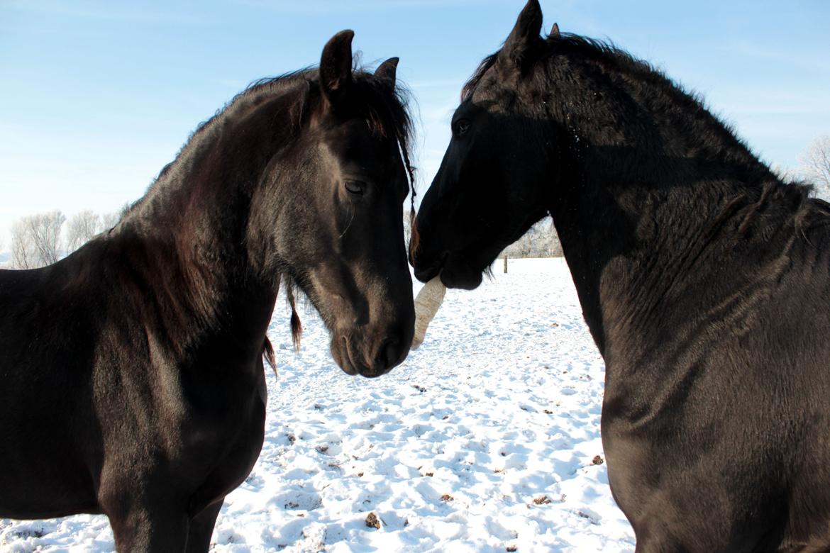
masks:
[[[710,267],[696,260],[726,260],[723,234],[767,192],[783,189],[694,99],[662,82],[637,86],[617,76],[609,78],[627,87],[618,104],[609,90],[557,90],[583,101],[551,114],[567,146],[550,211],[606,361],[610,342],[681,316],[670,299],[677,290],[708,279],[710,303],[734,293],[740,275],[696,273]]]

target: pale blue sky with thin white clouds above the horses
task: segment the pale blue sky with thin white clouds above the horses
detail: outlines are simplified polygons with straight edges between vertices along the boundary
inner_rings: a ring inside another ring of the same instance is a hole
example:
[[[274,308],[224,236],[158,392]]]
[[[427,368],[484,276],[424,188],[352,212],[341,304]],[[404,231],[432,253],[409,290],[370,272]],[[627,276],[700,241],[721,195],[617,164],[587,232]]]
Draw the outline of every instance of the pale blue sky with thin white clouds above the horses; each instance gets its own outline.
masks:
[[[0,0],[0,250],[17,217],[116,211],[252,80],[315,65],[355,31],[400,56],[420,125],[419,188],[462,83],[523,0]],[[607,38],[701,93],[768,163],[830,133],[830,2],[542,0],[544,27]]]

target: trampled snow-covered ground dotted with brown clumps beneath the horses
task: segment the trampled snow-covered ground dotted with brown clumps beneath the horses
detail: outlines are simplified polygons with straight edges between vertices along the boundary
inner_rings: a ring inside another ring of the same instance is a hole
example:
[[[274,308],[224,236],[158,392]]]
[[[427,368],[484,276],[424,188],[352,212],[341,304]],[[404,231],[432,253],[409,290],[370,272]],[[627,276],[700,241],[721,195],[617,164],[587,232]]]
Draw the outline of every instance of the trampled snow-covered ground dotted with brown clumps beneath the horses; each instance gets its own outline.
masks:
[[[265,444],[212,551],[633,551],[599,438],[603,360],[568,269],[509,269],[449,290],[422,347],[374,380],[340,371],[310,310],[293,352],[278,303]],[[0,520],[0,551],[113,548],[105,517]]]

